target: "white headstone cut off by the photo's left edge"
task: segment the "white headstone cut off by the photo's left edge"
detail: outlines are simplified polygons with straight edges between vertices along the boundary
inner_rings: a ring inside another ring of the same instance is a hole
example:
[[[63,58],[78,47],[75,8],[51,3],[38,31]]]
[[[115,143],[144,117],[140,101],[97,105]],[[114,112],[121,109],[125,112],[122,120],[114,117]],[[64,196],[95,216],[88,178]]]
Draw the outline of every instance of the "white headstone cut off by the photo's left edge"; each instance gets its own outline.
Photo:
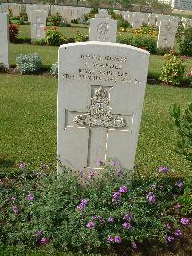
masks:
[[[0,13],[0,63],[9,68],[9,17],[7,13]]]

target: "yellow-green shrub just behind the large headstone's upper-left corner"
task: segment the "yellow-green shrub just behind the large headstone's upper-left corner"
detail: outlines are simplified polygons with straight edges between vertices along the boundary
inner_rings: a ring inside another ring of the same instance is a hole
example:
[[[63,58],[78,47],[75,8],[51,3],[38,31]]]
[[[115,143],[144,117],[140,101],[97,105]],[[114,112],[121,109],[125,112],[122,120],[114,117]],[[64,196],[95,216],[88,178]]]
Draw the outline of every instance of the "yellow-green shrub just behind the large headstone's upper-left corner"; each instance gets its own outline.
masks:
[[[65,42],[65,39],[62,37],[60,31],[58,31],[57,28],[54,27],[46,30],[45,41],[48,45],[60,46]]]

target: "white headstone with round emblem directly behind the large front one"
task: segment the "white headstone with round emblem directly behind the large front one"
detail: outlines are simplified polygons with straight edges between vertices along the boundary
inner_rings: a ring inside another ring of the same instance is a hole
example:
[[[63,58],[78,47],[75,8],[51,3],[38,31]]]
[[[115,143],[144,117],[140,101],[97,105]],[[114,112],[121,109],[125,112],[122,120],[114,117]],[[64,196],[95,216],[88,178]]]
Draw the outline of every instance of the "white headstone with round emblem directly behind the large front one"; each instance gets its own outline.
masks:
[[[95,18],[90,20],[89,40],[116,42],[117,21],[111,19],[107,10],[101,9]]]

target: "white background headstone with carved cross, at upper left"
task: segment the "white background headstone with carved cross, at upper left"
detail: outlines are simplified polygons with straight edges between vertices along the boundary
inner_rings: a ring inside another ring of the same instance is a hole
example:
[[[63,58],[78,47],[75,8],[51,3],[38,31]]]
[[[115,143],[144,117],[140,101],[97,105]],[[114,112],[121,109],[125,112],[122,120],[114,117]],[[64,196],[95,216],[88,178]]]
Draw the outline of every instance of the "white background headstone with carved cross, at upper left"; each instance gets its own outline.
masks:
[[[31,39],[44,39],[46,29],[47,12],[44,10],[33,10],[31,16]]]

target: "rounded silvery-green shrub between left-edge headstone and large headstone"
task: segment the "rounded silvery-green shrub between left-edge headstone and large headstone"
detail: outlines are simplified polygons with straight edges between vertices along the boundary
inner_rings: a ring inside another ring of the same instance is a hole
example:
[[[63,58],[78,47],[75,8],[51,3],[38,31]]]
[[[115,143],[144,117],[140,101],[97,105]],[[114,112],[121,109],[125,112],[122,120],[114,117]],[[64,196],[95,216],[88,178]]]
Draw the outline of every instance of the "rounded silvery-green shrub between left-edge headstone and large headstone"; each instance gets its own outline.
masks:
[[[21,74],[31,74],[40,71],[42,61],[38,54],[20,54],[16,57],[16,70]]]

